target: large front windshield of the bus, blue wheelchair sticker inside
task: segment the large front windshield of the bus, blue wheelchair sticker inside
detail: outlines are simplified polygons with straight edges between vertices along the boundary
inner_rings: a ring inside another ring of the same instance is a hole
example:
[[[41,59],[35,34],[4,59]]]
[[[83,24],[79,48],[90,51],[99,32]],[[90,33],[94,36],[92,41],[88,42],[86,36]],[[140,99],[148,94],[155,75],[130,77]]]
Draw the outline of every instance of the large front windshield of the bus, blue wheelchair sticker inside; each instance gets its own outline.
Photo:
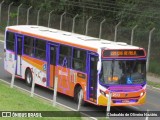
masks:
[[[145,81],[145,60],[102,61],[100,82],[103,84],[143,84]]]

